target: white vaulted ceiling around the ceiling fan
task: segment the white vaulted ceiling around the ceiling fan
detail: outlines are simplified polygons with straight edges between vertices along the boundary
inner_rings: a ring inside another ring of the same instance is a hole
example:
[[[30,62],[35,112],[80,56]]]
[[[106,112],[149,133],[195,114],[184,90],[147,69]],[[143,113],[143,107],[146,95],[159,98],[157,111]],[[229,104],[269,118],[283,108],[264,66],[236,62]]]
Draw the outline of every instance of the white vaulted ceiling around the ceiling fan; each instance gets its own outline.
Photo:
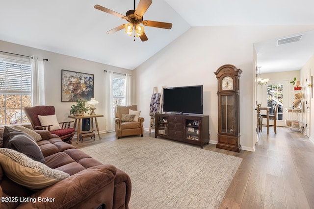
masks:
[[[95,4],[121,14],[133,9],[133,0],[0,0],[0,40],[133,70],[190,27],[314,24],[313,0],[153,0],[144,19],[173,26],[145,27],[148,41],[141,42],[124,30],[107,34],[126,21],[94,9]],[[314,34],[306,37],[314,46]],[[258,54],[260,49],[268,53],[265,59],[280,53],[259,44]],[[313,48],[307,53],[313,54]]]

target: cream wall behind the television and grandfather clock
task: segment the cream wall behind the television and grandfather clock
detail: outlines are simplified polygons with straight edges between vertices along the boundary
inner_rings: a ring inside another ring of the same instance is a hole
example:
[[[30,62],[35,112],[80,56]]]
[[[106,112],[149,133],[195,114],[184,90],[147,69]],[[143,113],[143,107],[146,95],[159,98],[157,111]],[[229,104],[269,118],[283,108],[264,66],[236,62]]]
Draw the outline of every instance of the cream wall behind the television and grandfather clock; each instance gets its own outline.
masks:
[[[153,87],[203,85],[203,113],[209,115],[211,142],[217,141],[217,79],[213,72],[232,64],[240,77],[240,133],[242,149],[254,151],[254,47],[263,40],[313,30],[302,26],[192,27],[170,45],[134,70],[136,102],[149,128],[149,105]]]

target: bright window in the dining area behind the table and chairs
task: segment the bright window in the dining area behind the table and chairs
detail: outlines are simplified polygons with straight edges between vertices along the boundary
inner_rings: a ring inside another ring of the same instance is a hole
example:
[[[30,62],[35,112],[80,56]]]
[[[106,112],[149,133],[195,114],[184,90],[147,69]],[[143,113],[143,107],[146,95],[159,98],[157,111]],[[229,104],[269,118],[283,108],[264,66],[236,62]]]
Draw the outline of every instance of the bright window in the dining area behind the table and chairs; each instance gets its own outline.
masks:
[[[269,114],[274,114],[278,104],[277,120],[283,120],[283,85],[267,85],[267,107]]]

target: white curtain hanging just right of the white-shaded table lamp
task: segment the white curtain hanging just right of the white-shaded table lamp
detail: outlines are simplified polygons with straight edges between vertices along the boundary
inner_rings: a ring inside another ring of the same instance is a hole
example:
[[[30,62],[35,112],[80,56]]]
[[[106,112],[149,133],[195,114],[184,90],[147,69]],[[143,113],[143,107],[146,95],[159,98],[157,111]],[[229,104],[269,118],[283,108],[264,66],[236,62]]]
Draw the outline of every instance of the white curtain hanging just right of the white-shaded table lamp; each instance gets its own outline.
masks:
[[[114,112],[112,101],[112,77],[113,72],[105,71],[105,130],[114,130]]]

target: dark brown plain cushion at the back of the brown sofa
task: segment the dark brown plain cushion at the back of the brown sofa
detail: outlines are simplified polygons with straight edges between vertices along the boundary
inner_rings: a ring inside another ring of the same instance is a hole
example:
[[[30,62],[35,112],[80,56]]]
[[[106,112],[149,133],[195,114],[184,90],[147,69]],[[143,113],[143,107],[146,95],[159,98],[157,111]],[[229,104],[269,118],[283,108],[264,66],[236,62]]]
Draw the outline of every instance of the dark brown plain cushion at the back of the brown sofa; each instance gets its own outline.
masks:
[[[3,131],[3,147],[15,149],[35,161],[45,163],[44,156],[36,141],[23,131],[5,126]]]

